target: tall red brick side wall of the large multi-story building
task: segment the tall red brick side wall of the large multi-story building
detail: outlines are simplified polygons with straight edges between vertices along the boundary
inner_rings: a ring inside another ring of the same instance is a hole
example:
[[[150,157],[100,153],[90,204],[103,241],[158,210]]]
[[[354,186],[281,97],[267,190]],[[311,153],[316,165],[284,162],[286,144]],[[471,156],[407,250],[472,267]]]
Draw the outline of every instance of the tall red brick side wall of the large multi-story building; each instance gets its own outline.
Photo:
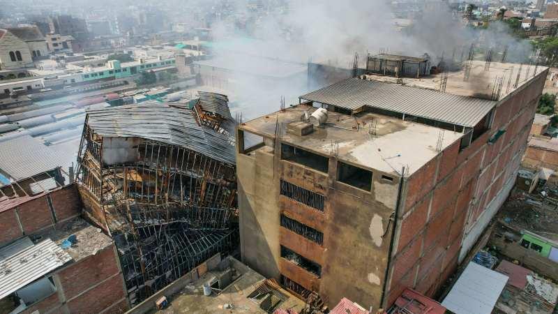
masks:
[[[388,305],[405,287],[432,297],[456,269],[463,239],[518,168],[545,74],[499,103],[491,129],[469,147],[452,144],[407,179]],[[497,130],[506,133],[488,144]]]

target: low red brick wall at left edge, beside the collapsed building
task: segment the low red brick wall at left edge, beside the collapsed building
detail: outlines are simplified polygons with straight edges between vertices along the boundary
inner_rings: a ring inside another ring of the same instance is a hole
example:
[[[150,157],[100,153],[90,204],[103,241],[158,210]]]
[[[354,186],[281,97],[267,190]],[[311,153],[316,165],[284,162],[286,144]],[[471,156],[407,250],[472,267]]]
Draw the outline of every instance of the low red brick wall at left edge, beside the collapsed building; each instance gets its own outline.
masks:
[[[15,207],[4,209],[0,212],[0,246],[79,216],[81,210],[82,202],[74,185],[64,186]]]

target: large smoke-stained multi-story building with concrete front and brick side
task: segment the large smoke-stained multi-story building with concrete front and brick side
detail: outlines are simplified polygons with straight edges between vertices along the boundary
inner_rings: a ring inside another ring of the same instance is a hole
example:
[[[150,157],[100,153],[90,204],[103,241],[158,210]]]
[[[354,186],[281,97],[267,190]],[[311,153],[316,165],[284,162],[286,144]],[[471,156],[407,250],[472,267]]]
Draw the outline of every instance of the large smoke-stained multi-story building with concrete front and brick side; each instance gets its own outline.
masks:
[[[435,294],[515,181],[548,71],[512,66],[363,75],[240,124],[243,262],[330,306]]]

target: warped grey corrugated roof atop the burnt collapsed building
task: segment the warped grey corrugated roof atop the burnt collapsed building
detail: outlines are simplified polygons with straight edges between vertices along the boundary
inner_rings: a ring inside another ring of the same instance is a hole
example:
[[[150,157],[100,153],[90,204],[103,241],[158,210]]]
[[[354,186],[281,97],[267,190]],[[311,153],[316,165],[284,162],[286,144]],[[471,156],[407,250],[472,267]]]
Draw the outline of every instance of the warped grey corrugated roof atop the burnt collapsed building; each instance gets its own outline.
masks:
[[[164,103],[110,107],[87,112],[96,133],[110,137],[142,137],[234,164],[234,138],[199,126],[191,110]]]

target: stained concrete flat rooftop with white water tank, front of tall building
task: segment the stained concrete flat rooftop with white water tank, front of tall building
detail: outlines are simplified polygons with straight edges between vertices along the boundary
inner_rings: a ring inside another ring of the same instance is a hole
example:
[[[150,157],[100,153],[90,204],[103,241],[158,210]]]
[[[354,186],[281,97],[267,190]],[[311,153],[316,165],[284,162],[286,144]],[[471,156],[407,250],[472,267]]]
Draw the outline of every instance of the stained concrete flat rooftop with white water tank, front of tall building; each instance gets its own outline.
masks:
[[[248,121],[240,128],[275,138],[277,125],[284,125],[286,129],[287,124],[301,121],[304,112],[312,114],[315,110],[306,104],[295,105]],[[303,136],[283,133],[282,141],[324,156],[330,156],[332,146],[335,146],[332,143],[337,143],[340,160],[400,175],[403,166],[407,174],[416,172],[463,135],[371,112],[359,112],[353,116],[336,112],[328,114],[324,126],[315,126],[312,133]]]

